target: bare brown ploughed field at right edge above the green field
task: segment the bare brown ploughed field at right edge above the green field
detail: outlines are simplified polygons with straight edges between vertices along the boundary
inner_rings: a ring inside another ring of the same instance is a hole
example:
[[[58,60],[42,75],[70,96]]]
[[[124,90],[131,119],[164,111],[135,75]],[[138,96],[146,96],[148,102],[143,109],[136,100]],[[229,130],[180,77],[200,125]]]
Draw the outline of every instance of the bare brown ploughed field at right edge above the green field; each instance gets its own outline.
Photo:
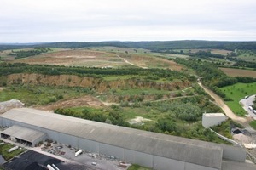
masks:
[[[253,77],[256,78],[256,71],[248,71],[241,69],[232,69],[232,68],[219,68],[221,71],[230,77]]]

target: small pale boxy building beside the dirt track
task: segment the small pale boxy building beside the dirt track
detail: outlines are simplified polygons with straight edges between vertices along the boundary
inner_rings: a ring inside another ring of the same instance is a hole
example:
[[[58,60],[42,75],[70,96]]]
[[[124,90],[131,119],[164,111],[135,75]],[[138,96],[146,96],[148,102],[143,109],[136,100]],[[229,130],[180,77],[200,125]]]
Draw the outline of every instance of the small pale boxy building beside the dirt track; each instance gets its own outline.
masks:
[[[227,119],[223,113],[204,113],[202,116],[202,126],[212,127],[221,124]]]

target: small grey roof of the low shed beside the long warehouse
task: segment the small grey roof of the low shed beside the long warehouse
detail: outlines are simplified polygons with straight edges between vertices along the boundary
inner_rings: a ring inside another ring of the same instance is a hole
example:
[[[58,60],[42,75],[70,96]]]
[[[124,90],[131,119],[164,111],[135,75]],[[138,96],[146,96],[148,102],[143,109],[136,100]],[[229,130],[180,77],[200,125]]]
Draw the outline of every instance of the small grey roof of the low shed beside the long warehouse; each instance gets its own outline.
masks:
[[[45,133],[16,125],[5,129],[1,133],[7,134],[9,136],[14,136],[18,139],[26,140],[31,143],[45,135]]]

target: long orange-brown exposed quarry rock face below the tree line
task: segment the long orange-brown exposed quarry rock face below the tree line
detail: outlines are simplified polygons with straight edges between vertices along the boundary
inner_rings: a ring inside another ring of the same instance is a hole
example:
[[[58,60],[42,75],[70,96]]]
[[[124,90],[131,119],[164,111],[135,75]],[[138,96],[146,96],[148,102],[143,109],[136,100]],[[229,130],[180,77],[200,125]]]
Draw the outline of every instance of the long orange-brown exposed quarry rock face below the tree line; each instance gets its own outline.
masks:
[[[99,92],[108,91],[111,88],[157,88],[164,90],[176,90],[187,88],[191,85],[189,81],[176,82],[153,82],[131,78],[126,80],[105,81],[95,77],[79,77],[75,75],[42,75],[42,74],[12,74],[6,77],[7,84],[24,83],[24,84],[45,84],[53,86],[69,86],[95,88]]]

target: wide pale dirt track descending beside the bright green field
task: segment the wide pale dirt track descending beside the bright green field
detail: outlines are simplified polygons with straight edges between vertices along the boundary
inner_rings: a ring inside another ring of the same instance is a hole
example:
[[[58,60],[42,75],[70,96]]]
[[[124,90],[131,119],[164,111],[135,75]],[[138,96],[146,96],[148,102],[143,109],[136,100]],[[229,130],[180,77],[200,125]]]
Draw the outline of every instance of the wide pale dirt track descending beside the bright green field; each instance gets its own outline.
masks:
[[[241,125],[243,125],[244,127],[248,126],[248,122],[251,121],[249,117],[236,116],[233,113],[233,111],[230,110],[229,106],[225,105],[224,101],[217,94],[214,94],[211,90],[204,87],[201,84],[201,82],[199,82],[198,84],[201,86],[201,88],[203,88],[207,92],[207,94],[210,94],[210,96],[215,100],[216,104],[224,111],[226,116],[230,117],[230,119],[232,119],[235,122],[241,123]]]

